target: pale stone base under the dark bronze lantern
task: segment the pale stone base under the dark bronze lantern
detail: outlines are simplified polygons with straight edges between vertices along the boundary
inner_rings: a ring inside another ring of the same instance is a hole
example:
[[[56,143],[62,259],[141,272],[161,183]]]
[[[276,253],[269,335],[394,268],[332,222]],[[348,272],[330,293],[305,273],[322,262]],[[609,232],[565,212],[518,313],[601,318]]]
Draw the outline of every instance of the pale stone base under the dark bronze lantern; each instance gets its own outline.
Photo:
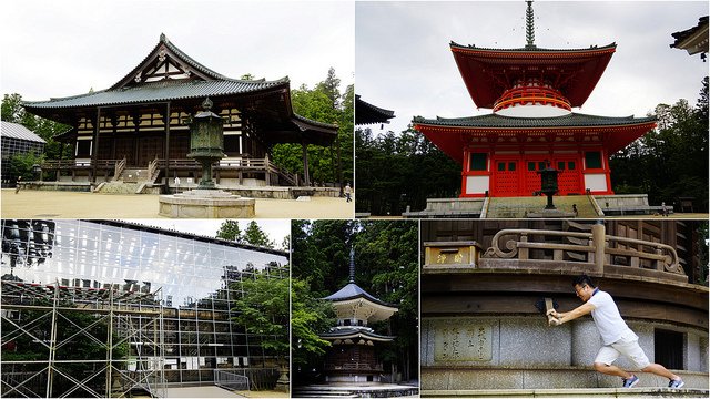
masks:
[[[256,200],[221,190],[191,190],[174,195],[161,195],[159,214],[173,218],[254,217]]]

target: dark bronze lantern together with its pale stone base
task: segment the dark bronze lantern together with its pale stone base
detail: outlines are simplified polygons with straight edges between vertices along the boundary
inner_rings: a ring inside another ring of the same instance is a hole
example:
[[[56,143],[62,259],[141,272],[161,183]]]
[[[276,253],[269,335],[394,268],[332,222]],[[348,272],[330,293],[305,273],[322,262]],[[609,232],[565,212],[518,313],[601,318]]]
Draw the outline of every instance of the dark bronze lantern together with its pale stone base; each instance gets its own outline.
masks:
[[[254,217],[255,200],[219,190],[212,180],[212,164],[224,157],[223,121],[212,112],[212,101],[202,102],[190,124],[190,153],[202,166],[196,188],[180,194],[161,195],[160,215],[168,217],[226,218]]]

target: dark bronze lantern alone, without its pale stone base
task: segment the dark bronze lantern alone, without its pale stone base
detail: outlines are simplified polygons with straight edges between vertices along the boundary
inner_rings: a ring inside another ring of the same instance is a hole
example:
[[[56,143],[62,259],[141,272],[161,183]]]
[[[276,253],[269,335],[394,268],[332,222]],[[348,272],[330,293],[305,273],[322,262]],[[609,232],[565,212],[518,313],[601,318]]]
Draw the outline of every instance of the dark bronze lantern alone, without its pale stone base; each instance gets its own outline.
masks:
[[[190,153],[202,165],[202,178],[199,190],[214,190],[212,181],[212,164],[222,160],[224,155],[224,122],[222,117],[211,111],[212,101],[202,102],[202,111],[192,119],[190,124]]]

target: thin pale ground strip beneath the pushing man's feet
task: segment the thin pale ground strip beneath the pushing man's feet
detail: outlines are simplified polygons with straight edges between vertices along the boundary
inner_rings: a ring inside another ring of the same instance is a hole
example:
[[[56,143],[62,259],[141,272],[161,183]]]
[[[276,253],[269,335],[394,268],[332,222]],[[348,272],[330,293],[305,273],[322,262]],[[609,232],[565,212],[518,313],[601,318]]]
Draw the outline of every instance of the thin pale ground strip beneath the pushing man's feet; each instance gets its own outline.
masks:
[[[423,390],[423,398],[708,398],[707,389],[570,388]]]

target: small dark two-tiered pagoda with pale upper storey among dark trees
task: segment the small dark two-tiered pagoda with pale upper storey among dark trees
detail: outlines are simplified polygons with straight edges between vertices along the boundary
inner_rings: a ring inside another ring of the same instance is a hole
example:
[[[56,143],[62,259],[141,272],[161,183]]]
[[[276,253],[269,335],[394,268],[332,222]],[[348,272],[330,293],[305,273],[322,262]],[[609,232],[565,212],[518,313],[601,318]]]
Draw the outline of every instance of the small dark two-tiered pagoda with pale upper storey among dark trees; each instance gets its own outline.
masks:
[[[376,334],[368,323],[386,320],[397,307],[386,304],[355,284],[355,262],[351,250],[349,283],[324,298],[333,303],[337,326],[321,338],[331,342],[325,358],[326,382],[379,382],[384,371],[377,347],[395,337]]]

